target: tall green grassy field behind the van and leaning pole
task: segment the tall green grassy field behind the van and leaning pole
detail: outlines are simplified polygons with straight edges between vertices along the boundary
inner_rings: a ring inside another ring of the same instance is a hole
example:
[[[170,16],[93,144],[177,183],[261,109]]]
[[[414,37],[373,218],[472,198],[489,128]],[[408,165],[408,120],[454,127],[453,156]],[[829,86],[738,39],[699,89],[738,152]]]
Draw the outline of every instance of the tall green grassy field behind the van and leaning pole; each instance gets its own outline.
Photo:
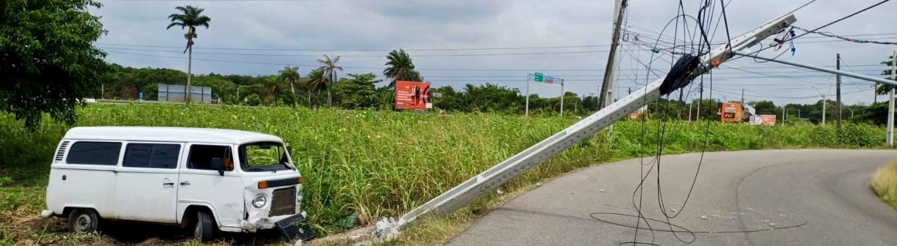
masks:
[[[305,177],[303,206],[309,220],[317,233],[327,235],[347,230],[336,224],[352,213],[357,215],[356,226],[402,215],[576,121],[495,114],[92,104],[80,111],[78,126],[220,127],[281,136],[292,145],[294,161]],[[643,128],[639,121],[621,121],[613,136],[601,133],[573,145],[501,189],[523,190],[590,164],[654,154],[660,131],[665,132],[664,154],[701,151],[705,137],[708,151],[872,148],[884,143],[883,128],[864,125],[846,125],[838,132],[831,126],[812,125],[663,124],[649,121]],[[48,163],[68,127],[48,120],[30,132],[13,116],[0,114],[0,128],[0,245],[29,245],[47,238],[54,245],[103,242],[64,233],[65,224],[56,220],[36,219],[45,206]],[[430,224],[469,222],[470,215],[501,199],[480,199],[466,212]],[[457,230],[453,228],[431,232]],[[179,238],[165,242],[189,243]]]

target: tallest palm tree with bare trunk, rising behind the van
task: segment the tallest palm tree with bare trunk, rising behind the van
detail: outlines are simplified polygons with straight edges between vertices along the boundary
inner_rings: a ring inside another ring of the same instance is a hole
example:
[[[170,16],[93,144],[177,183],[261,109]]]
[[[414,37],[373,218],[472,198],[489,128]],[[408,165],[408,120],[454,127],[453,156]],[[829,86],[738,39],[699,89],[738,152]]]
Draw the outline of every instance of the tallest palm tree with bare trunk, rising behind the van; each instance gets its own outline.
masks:
[[[196,27],[205,26],[205,29],[209,29],[209,22],[211,22],[212,19],[209,18],[209,16],[202,15],[204,9],[194,6],[178,6],[174,9],[179,10],[183,14],[172,13],[169,15],[171,23],[165,30],[169,30],[174,26],[179,26],[181,30],[189,27],[187,33],[184,34],[184,39],[187,39],[187,48],[184,49],[184,52],[190,51],[190,55],[187,55],[187,87],[184,88],[184,105],[187,105],[190,104],[190,97],[188,95],[190,90],[190,70],[193,65],[193,39],[198,38],[196,36]]]

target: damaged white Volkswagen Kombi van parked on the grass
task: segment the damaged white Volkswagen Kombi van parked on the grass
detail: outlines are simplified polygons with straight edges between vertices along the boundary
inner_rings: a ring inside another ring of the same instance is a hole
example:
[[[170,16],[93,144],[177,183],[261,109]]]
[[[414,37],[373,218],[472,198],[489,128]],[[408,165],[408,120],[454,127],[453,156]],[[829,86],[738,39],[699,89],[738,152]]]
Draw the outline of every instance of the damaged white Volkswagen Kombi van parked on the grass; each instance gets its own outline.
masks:
[[[102,220],[216,231],[278,229],[313,237],[301,210],[302,176],[283,140],[187,127],[74,127],[59,142],[42,216],[68,218],[76,233]]]

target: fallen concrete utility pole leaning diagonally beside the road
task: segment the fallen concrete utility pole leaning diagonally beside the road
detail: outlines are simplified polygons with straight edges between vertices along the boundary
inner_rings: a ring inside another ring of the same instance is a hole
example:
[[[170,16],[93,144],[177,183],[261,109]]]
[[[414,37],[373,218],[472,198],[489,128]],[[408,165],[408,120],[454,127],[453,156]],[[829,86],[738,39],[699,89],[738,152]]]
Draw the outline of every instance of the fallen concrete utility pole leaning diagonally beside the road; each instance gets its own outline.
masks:
[[[604,127],[614,124],[618,119],[628,116],[650,101],[658,100],[663,94],[688,85],[692,80],[707,72],[707,69],[716,67],[732,57],[732,51],[740,48],[748,48],[770,35],[784,29],[796,19],[791,13],[766,22],[753,31],[748,31],[742,36],[733,37],[727,46],[712,50],[703,57],[683,56],[676,62],[669,75],[659,78],[645,87],[633,91],[631,94],[607,105],[604,109],[576,124],[567,127],[553,136],[549,136],[536,145],[511,156],[504,162],[498,163],[492,168],[483,171],[470,180],[466,180],[455,188],[449,189],[436,198],[432,198],[422,206],[414,208],[403,215],[397,222],[398,227],[414,222],[419,216],[431,212],[450,213],[465,206],[475,198],[482,197],[504,183],[526,172],[539,163],[579,143],[588,136],[593,136]],[[733,49],[735,48],[735,49]]]

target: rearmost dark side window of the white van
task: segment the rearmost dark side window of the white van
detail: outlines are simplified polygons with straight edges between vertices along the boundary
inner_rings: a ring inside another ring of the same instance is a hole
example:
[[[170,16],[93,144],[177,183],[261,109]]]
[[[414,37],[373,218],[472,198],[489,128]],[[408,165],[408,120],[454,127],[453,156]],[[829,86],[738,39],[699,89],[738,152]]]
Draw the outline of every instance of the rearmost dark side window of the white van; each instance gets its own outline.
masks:
[[[65,157],[68,164],[110,165],[118,164],[121,143],[75,142]]]

